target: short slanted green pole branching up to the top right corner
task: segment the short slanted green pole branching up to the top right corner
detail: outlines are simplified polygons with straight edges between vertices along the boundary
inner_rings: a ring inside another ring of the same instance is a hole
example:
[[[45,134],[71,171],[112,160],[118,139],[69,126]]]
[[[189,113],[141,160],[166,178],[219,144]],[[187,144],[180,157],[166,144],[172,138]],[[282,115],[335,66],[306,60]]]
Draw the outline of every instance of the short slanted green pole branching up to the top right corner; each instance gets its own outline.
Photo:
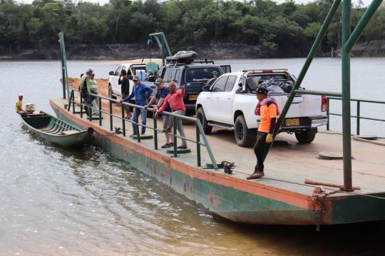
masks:
[[[350,52],[351,48],[353,48],[354,44],[358,41],[359,36],[361,36],[362,32],[364,32],[364,29],[369,24],[369,21],[376,13],[377,9],[379,9],[379,6],[381,5],[382,0],[374,0],[371,1],[371,4],[368,6],[368,9],[366,9],[364,15],[359,20],[359,23],[357,24],[354,31],[351,33],[351,36],[349,36],[349,39],[347,39],[347,42],[345,44],[345,51]]]

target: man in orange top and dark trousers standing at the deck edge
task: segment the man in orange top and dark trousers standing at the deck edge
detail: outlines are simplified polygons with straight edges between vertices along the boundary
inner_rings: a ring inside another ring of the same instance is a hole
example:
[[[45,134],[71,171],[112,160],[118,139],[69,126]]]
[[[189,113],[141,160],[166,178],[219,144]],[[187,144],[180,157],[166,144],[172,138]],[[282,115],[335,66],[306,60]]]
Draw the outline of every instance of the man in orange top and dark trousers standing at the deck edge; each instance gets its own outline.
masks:
[[[258,179],[265,176],[263,162],[266,158],[267,145],[272,143],[275,123],[277,121],[278,106],[272,97],[267,96],[267,88],[257,88],[258,105],[255,115],[260,115],[260,127],[257,133],[257,142],[254,145],[254,153],[257,157],[254,173],[247,180]]]

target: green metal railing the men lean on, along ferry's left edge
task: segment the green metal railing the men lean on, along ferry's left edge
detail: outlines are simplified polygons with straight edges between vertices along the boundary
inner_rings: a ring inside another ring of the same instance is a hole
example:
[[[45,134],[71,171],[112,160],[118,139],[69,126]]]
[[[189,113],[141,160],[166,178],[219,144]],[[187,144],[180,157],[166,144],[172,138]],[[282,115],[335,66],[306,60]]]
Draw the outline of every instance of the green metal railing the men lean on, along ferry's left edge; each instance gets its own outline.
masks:
[[[143,106],[138,106],[138,105],[135,105],[135,104],[132,104],[132,103],[125,103],[125,102],[120,103],[120,101],[114,100],[113,98],[108,98],[108,97],[101,96],[101,95],[98,95],[98,94],[88,93],[88,96],[95,96],[96,100],[99,102],[99,108],[95,109],[95,108],[92,108],[92,107],[88,106],[87,104],[83,103],[83,97],[82,97],[83,94],[81,93],[81,91],[78,91],[76,89],[72,89],[71,90],[71,95],[69,97],[69,102],[70,103],[68,103],[67,111],[71,111],[71,107],[72,107],[72,113],[73,114],[76,113],[76,111],[75,111],[75,105],[76,105],[76,102],[75,102],[75,91],[80,93],[80,101],[78,102],[78,105],[80,106],[81,118],[83,118],[83,106],[87,106],[88,108],[91,109],[91,111],[88,111],[88,114],[89,114],[88,120],[89,121],[93,121],[92,112],[93,111],[98,111],[98,113],[99,113],[99,115],[98,115],[99,126],[102,126],[102,119],[103,119],[102,118],[102,113],[105,113],[105,114],[107,114],[109,116],[110,130],[111,131],[113,130],[113,118],[118,118],[118,119],[120,119],[122,121],[123,137],[125,137],[125,123],[126,122],[133,123],[136,126],[136,130],[137,130],[136,139],[138,140],[138,143],[140,143],[139,126],[140,127],[149,128],[149,129],[153,130],[153,133],[154,133],[153,134],[154,135],[154,148],[156,150],[158,149],[158,133],[163,133],[163,130],[158,129],[158,127],[157,127],[157,119],[155,118],[155,115],[153,117],[153,126],[143,125],[143,124],[138,122],[140,109],[144,109]],[[108,101],[108,103],[109,103],[108,104],[109,105],[108,111],[104,111],[102,109],[102,99]],[[117,115],[113,114],[112,103],[119,103],[119,104],[121,104],[121,115],[120,116],[117,116]],[[125,106],[132,107],[133,111],[135,111],[136,115],[135,115],[135,120],[134,121],[125,118]],[[153,108],[148,108],[147,111],[153,111]],[[170,118],[173,118],[173,134],[172,135],[174,137],[174,145],[173,145],[174,157],[175,158],[178,157],[178,154],[177,154],[178,153],[177,139],[181,138],[181,139],[184,139],[184,140],[188,140],[188,141],[193,142],[193,143],[196,144],[196,147],[197,147],[196,148],[197,149],[197,166],[202,166],[200,146],[204,146],[206,148],[206,150],[207,150],[208,155],[210,156],[210,160],[211,160],[213,168],[215,170],[218,170],[217,162],[215,160],[214,154],[212,153],[212,150],[210,148],[210,144],[208,143],[208,140],[206,138],[205,132],[204,132],[204,130],[202,128],[202,124],[200,123],[200,121],[197,118],[192,118],[192,117],[189,117],[189,116],[180,116],[180,115],[177,115],[175,113],[168,113],[168,112],[165,112],[165,111],[162,114],[163,115],[168,115],[168,116],[170,116]],[[186,138],[186,137],[183,137],[183,136],[177,134],[177,125],[176,125],[177,118],[180,118],[180,119],[185,120],[185,121],[191,121],[191,122],[195,123],[195,140],[192,140],[190,138]],[[200,141],[200,137],[202,137],[203,143]]]

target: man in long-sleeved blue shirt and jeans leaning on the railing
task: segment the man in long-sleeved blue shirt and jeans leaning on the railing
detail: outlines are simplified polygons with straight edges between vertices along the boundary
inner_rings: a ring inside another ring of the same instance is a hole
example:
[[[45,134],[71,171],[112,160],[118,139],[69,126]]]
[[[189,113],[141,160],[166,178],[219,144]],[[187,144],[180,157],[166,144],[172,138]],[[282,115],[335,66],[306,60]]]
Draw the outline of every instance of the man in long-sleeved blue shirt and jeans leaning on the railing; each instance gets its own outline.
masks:
[[[135,104],[139,106],[145,106],[147,105],[148,101],[147,98],[150,97],[151,93],[153,93],[153,89],[146,86],[143,83],[140,83],[140,80],[138,76],[133,76],[133,82],[134,87],[132,93],[125,99],[120,100],[120,102],[128,102],[131,98],[135,97]],[[142,117],[142,132],[140,134],[145,134],[145,123],[147,121],[147,111],[145,109],[140,109],[140,116]],[[136,120],[136,111],[134,108],[133,111],[133,121]],[[130,135],[132,137],[133,135],[136,135],[136,126],[135,123],[133,123],[133,134]]]

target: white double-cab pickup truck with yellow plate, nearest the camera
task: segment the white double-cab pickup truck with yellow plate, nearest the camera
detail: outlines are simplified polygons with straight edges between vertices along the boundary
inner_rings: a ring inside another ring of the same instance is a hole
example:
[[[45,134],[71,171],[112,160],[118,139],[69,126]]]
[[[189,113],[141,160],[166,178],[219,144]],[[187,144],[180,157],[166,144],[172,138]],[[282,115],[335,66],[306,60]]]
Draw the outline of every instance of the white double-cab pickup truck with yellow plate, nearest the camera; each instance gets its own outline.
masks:
[[[247,78],[263,81],[292,81],[296,78],[286,69],[254,70],[225,73],[212,83],[204,86],[197,97],[196,117],[202,123],[206,134],[212,127],[234,130],[237,144],[246,147],[255,143],[260,116],[255,115],[258,100],[256,88],[250,88]],[[282,110],[289,93],[270,93]],[[311,143],[317,127],[327,124],[327,98],[325,96],[297,95],[287,112],[279,130],[295,133],[299,143]]]

